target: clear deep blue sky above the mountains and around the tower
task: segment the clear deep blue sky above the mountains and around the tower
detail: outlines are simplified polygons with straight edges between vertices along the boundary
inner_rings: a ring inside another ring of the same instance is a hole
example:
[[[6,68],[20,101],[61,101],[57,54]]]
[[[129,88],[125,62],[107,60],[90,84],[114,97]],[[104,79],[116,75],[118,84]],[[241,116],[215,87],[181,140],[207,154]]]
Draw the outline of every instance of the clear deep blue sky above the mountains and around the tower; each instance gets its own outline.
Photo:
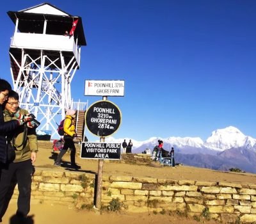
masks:
[[[83,19],[87,46],[72,82],[74,100],[85,79],[125,80],[113,138],[200,137],[233,125],[256,138],[256,1],[48,1]],[[1,4],[1,74],[11,81],[8,11],[43,1]],[[88,131],[87,131],[88,132]],[[87,134],[89,140],[96,136]]]

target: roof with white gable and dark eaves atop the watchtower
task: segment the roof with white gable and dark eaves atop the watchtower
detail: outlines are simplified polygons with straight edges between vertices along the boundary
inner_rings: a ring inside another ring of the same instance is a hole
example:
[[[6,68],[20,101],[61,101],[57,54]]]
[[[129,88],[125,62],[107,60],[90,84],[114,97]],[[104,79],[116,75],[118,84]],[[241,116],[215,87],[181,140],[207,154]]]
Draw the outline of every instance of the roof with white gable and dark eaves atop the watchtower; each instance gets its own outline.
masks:
[[[14,24],[19,19],[18,29],[22,33],[42,33],[44,21],[47,20],[46,32],[50,35],[63,35],[65,31],[69,32],[72,22],[78,19],[74,37],[77,38],[78,45],[86,45],[82,18],[70,15],[52,4],[42,3],[17,12],[8,11],[7,14]]]

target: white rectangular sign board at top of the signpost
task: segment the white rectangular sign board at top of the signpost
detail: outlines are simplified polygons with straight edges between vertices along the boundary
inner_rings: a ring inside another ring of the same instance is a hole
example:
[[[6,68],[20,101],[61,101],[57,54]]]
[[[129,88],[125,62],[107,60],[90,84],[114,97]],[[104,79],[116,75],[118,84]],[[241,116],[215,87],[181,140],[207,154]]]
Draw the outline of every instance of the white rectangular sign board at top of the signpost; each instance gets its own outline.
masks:
[[[124,80],[86,80],[84,95],[124,97]]]

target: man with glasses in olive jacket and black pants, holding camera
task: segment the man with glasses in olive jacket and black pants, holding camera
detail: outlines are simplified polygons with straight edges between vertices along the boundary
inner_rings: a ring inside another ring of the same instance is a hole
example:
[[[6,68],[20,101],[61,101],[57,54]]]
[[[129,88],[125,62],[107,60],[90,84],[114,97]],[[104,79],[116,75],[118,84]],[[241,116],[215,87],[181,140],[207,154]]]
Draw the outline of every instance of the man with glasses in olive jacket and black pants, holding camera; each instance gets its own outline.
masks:
[[[19,94],[13,90],[9,92],[8,100],[3,105],[4,122],[17,120],[17,114],[29,115],[26,109],[19,108]],[[38,151],[36,127],[35,122],[32,120],[7,135],[8,143],[15,148],[15,159],[2,169],[0,179],[0,220],[6,212],[16,184],[18,184],[19,189],[17,218],[26,219],[30,210],[31,177],[35,170],[33,163],[36,160],[36,152]]]

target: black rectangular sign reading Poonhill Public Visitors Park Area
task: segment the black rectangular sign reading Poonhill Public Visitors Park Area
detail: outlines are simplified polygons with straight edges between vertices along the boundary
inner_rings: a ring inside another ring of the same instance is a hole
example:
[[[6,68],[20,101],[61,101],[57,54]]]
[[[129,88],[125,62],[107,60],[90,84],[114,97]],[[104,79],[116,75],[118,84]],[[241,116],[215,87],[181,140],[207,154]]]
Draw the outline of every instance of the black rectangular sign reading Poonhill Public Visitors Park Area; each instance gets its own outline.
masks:
[[[83,159],[120,159],[121,143],[82,142]]]

